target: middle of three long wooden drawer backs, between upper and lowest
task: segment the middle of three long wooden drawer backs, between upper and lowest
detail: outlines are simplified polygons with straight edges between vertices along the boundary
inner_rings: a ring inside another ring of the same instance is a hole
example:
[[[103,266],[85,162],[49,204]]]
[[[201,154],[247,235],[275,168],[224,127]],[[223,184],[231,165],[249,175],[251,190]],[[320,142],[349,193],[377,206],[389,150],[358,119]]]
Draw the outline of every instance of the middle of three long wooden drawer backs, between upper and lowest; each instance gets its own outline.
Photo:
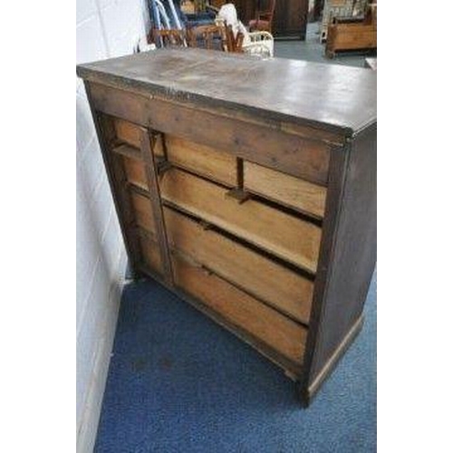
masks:
[[[308,323],[312,281],[173,209],[164,208],[164,214],[173,249],[279,311]]]

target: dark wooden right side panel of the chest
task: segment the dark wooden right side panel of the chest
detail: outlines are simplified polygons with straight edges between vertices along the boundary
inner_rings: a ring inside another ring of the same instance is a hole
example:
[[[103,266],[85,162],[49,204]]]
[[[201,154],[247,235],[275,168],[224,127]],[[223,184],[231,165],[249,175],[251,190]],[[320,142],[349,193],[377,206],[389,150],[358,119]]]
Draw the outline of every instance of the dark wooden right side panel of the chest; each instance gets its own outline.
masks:
[[[344,157],[333,168],[333,178],[337,173],[340,179],[338,200],[332,200],[336,212],[323,241],[323,278],[314,288],[308,385],[360,318],[376,264],[376,125],[361,132]]]

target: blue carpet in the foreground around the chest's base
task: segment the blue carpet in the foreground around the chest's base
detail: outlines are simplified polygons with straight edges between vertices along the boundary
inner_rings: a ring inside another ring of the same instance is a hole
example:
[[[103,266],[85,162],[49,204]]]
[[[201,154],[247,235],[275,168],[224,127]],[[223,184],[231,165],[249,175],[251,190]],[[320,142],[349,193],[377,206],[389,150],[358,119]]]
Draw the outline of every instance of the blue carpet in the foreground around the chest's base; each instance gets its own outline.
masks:
[[[376,276],[365,325],[312,406],[255,350],[159,284],[128,285],[97,453],[376,450]]]

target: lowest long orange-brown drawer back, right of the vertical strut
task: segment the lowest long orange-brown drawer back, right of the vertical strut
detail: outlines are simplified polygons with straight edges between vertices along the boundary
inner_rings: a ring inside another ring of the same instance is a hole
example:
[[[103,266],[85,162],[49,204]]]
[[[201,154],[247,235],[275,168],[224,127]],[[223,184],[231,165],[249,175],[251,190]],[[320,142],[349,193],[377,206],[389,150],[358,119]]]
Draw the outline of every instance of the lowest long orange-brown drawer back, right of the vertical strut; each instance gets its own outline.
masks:
[[[175,284],[231,323],[245,329],[292,361],[300,363],[306,329],[232,284],[173,255]]]

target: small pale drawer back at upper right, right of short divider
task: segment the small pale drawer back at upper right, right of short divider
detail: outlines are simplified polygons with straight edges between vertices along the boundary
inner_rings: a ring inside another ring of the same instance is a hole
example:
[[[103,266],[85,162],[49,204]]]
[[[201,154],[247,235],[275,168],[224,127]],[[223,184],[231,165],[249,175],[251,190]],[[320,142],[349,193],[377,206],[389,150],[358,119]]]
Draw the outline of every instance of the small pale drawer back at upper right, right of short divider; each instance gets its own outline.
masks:
[[[327,190],[252,162],[244,162],[244,188],[305,214],[322,218]]]

